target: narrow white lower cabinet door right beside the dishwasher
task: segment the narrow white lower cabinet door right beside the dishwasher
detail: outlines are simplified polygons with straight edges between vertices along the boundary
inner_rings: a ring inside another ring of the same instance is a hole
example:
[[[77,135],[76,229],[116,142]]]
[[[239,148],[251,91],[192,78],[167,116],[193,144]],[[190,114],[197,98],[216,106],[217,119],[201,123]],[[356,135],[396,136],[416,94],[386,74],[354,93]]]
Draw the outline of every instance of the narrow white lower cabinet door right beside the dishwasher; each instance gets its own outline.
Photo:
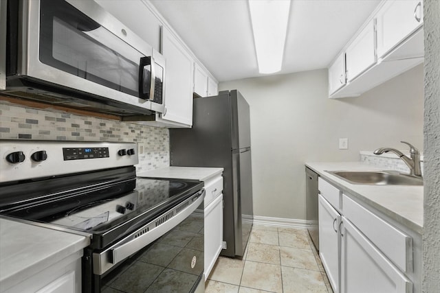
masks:
[[[340,218],[338,211],[319,195],[319,256],[333,292],[339,292],[340,286],[340,232],[338,229]]]

